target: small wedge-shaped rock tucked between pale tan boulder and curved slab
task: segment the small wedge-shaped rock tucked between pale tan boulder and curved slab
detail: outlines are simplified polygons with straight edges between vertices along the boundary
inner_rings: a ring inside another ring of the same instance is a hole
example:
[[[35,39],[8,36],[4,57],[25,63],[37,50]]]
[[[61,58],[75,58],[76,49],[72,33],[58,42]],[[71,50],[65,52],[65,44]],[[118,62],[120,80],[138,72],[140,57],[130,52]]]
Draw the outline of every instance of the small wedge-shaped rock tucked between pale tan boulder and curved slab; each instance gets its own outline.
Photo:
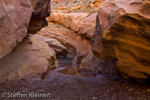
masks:
[[[49,47],[52,48],[55,51],[56,56],[60,56],[60,55],[65,55],[66,56],[67,55],[67,53],[68,53],[67,48],[64,45],[62,45],[58,40],[43,37],[43,36],[40,36],[40,35],[38,35],[38,36],[43,38],[44,41],[48,43]]]

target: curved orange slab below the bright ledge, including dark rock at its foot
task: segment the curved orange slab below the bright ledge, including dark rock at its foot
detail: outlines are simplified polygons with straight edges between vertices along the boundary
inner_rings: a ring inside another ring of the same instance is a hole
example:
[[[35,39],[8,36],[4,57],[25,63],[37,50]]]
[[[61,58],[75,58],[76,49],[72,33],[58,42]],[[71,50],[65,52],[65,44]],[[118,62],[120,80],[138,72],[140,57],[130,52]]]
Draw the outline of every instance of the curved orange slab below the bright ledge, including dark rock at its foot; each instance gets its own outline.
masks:
[[[93,55],[90,40],[84,36],[80,36],[70,29],[52,22],[38,34],[60,41],[68,49],[68,52],[74,55],[73,64],[75,66],[80,64],[79,71],[84,70],[95,75],[118,75],[113,62],[102,60]],[[63,71],[66,71],[66,69]]]

